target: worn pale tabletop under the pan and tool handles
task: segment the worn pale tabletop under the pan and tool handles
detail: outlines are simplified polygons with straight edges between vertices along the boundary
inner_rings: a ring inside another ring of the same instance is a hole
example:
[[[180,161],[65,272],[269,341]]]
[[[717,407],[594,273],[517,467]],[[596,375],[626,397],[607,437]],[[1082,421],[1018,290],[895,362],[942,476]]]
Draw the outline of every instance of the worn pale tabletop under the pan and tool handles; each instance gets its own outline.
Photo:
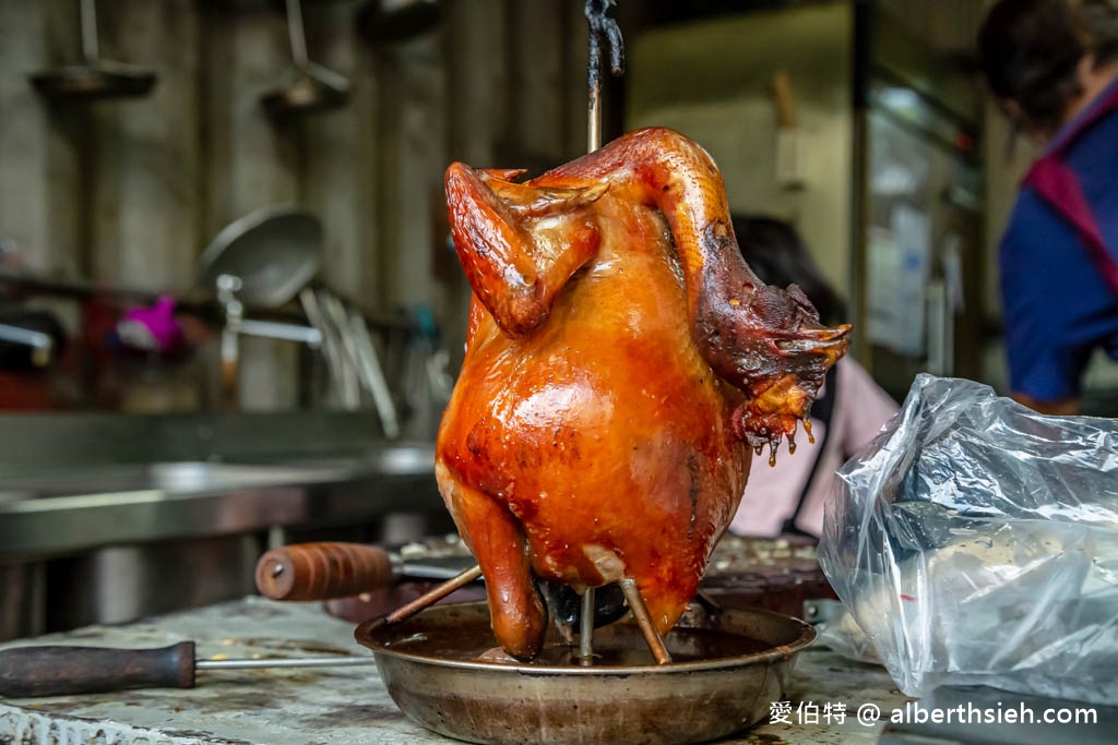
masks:
[[[353,627],[313,603],[275,603],[259,598],[173,613],[126,627],[92,627],[46,642],[162,647],[198,643],[200,658],[364,656]],[[766,724],[736,743],[873,743],[884,722],[860,725],[862,704],[889,710],[907,700],[883,669],[849,662],[824,649],[800,653],[786,698],[790,724]],[[843,703],[844,722],[797,724],[800,703],[822,711]],[[622,704],[623,705],[623,704]],[[0,742],[332,745],[452,743],[407,719],[392,703],[375,666],[240,670],[199,674],[193,689],[149,689],[41,699],[0,699]]]

